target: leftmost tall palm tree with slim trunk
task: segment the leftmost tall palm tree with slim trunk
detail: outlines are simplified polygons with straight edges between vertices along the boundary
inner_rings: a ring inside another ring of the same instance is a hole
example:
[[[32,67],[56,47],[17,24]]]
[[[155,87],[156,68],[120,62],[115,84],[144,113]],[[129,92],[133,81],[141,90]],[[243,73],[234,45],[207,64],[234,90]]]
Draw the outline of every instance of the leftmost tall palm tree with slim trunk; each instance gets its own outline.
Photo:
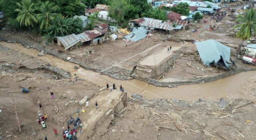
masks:
[[[15,9],[15,12],[19,12],[19,14],[16,20],[20,23],[20,26],[25,25],[26,27],[29,27],[31,33],[30,26],[34,27],[34,22],[38,22],[35,17],[36,14],[34,13],[36,10],[34,4],[31,3],[31,0],[22,0],[21,4],[17,3],[17,5],[19,9]]]

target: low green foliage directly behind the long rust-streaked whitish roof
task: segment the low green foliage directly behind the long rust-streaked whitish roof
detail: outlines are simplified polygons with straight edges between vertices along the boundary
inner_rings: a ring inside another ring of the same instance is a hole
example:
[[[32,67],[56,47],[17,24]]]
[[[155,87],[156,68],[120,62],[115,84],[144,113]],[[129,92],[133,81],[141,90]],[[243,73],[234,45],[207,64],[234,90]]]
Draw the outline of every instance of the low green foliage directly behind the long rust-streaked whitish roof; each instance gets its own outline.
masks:
[[[160,19],[160,20],[167,20],[166,11],[160,9],[159,7],[152,8],[152,9],[148,10],[147,12],[142,13],[141,16],[146,17],[146,18],[155,18],[155,19]]]

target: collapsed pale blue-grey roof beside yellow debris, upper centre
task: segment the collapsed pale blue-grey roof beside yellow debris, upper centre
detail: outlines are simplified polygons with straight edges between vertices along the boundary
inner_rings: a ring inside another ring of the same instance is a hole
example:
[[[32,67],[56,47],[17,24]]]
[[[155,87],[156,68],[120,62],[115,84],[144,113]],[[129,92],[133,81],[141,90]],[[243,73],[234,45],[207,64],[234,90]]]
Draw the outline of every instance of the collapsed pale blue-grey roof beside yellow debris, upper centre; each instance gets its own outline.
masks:
[[[124,38],[136,42],[145,38],[148,32],[149,31],[145,27],[134,27],[132,32],[127,36],[124,36]]]

